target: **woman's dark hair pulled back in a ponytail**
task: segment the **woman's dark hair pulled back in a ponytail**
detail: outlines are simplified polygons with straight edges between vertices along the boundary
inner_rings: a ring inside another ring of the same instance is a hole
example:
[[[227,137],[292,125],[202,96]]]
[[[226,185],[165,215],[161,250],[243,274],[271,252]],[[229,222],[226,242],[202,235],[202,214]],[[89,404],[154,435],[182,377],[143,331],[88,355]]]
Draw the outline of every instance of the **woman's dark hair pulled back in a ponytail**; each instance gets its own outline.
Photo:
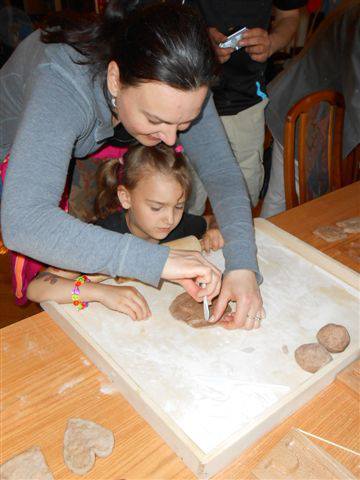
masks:
[[[110,0],[102,17],[62,19],[41,39],[72,46],[84,58],[78,63],[91,65],[95,74],[105,74],[115,61],[126,85],[150,80],[185,91],[210,85],[217,63],[199,15],[183,5],[142,3]]]

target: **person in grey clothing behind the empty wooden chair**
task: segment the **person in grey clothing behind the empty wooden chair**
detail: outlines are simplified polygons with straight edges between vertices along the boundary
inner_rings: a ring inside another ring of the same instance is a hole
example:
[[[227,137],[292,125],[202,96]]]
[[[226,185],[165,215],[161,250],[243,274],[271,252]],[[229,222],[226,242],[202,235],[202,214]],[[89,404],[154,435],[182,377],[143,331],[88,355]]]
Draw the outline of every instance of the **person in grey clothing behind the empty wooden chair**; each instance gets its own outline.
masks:
[[[356,0],[343,2],[326,17],[301,53],[269,84],[266,123],[274,145],[262,217],[286,210],[283,144],[287,112],[306,95],[327,89],[344,96],[345,158],[360,139],[360,5]]]

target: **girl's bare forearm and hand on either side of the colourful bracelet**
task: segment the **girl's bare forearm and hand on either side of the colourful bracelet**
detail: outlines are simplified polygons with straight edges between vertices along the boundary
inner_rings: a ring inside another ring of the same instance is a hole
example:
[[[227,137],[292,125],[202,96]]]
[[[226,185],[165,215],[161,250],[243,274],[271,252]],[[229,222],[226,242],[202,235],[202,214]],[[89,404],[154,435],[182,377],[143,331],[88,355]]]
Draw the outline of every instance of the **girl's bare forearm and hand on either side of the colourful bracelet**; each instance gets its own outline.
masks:
[[[27,288],[27,297],[37,303],[49,300],[57,303],[71,303],[71,293],[74,280],[78,274],[75,272],[47,269],[40,272]],[[61,276],[65,274],[67,278]],[[70,278],[70,277],[73,278]],[[86,282],[80,287],[80,299],[83,302],[100,302],[111,310],[125,313],[133,320],[144,320],[151,315],[145,298],[133,287],[117,287],[100,283]]]

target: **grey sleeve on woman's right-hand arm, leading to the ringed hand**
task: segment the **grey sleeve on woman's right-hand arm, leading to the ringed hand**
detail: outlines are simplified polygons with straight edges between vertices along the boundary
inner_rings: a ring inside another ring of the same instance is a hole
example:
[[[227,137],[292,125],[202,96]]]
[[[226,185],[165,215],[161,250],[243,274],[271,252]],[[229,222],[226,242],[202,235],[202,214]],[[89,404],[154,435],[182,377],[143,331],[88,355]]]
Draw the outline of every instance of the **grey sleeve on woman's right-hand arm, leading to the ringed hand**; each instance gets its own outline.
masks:
[[[224,236],[226,271],[252,270],[260,283],[249,196],[212,97],[202,117],[181,135],[181,142],[209,194]]]

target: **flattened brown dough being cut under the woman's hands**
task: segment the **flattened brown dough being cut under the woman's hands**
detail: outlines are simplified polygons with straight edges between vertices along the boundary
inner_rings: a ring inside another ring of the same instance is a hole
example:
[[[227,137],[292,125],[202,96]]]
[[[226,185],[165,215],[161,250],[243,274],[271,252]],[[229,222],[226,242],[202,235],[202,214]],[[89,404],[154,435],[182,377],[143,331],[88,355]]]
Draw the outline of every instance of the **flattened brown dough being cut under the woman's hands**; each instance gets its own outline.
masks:
[[[216,300],[213,300],[213,304],[210,306],[210,315],[212,309],[216,305]],[[204,310],[202,302],[196,302],[186,292],[178,295],[170,305],[169,311],[171,315],[182,322],[187,323],[193,328],[213,327],[216,324],[209,323],[204,320]],[[229,305],[226,307],[225,313],[231,313]]]

